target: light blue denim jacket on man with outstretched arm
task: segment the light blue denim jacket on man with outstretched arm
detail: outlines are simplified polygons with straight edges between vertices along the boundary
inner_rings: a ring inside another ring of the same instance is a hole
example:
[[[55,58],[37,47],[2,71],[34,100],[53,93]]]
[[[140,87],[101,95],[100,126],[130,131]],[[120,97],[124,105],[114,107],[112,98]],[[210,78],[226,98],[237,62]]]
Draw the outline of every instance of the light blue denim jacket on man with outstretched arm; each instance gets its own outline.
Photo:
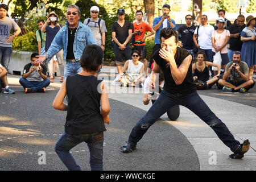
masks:
[[[79,21],[73,45],[74,56],[77,61],[80,60],[82,51],[84,51],[84,48],[89,44],[96,44],[92,31],[88,26]],[[59,32],[57,32],[48,52],[44,53],[44,56],[48,57],[46,63],[62,48],[64,51],[64,60],[66,60],[68,52],[68,22],[66,22],[66,26],[62,27]]]

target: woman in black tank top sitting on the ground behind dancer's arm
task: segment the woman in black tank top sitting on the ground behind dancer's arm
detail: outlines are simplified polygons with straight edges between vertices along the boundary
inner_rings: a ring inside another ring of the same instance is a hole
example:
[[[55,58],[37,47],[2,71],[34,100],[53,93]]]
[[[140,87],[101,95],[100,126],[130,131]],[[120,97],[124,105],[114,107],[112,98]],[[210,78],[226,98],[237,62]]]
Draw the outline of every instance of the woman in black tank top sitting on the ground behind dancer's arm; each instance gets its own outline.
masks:
[[[197,62],[192,65],[193,78],[196,82],[196,89],[203,90],[212,88],[221,72],[221,66],[207,60],[207,56],[204,51],[199,51],[197,53]],[[218,74],[213,78],[209,79],[209,67],[217,67]]]

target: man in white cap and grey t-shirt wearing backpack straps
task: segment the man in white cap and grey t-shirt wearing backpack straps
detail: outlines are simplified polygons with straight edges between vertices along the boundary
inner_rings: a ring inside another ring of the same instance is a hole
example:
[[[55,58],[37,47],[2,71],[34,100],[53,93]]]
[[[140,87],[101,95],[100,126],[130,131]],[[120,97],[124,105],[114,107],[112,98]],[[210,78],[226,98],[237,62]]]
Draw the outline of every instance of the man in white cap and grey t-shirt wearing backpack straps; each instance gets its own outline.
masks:
[[[88,27],[90,27],[90,30],[93,33],[93,36],[96,40],[96,44],[101,47],[102,51],[105,50],[105,40],[106,40],[106,24],[103,19],[98,18],[98,13],[100,12],[100,9],[98,6],[92,6],[90,8],[90,16],[91,18],[86,18],[84,20],[84,24]],[[101,69],[98,71],[98,73],[101,71]],[[98,73],[96,73],[95,76],[98,76]]]

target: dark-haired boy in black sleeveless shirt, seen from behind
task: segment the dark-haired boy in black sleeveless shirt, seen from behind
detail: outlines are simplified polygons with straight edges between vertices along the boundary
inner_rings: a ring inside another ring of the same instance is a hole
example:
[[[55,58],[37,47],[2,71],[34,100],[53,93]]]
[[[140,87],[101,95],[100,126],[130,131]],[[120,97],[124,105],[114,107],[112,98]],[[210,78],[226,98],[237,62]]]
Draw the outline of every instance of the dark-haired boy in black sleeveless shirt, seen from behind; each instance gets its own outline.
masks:
[[[81,170],[69,152],[81,142],[88,144],[92,171],[103,170],[104,123],[110,123],[110,105],[106,84],[94,76],[102,65],[102,57],[101,47],[86,46],[80,58],[83,71],[68,76],[53,101],[54,109],[67,110],[65,132],[55,151],[69,170]],[[63,103],[66,95],[68,105]]]

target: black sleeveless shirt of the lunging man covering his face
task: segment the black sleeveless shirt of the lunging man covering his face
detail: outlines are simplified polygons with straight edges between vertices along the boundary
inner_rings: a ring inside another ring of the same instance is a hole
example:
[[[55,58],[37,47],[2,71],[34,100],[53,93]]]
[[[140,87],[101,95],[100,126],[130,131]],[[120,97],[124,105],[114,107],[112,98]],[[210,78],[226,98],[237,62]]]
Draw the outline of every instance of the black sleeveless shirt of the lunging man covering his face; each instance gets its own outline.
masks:
[[[159,56],[159,51],[160,49],[154,53],[153,58],[156,64],[159,65],[159,67],[162,69],[162,72],[164,73],[164,90],[170,93],[180,94],[196,92],[196,84],[193,80],[192,75],[192,61],[191,64],[189,65],[188,72],[184,81],[182,82],[182,84],[176,85],[174,78],[172,78],[171,75],[170,65],[167,64],[167,61],[165,61],[164,59],[162,59],[162,57]],[[174,59],[176,61],[176,65],[178,68],[188,55],[191,55],[191,53],[189,53],[186,49],[177,47]]]

